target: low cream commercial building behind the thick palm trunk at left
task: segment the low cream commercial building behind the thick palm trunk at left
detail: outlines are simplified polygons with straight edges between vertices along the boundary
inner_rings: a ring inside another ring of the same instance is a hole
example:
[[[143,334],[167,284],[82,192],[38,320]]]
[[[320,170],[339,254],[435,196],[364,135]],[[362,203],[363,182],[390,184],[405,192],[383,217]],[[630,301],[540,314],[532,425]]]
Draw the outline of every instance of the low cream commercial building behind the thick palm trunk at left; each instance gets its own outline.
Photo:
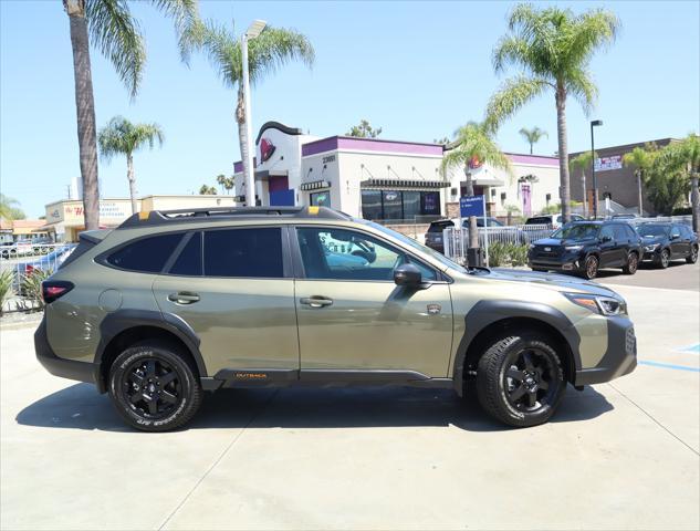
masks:
[[[211,208],[236,206],[233,196],[145,196],[138,199],[139,210],[176,210],[180,208]],[[43,230],[53,235],[56,241],[76,241],[85,230],[83,201],[64,199],[46,205],[46,220]],[[132,215],[128,198],[100,200],[100,227],[116,227]]]

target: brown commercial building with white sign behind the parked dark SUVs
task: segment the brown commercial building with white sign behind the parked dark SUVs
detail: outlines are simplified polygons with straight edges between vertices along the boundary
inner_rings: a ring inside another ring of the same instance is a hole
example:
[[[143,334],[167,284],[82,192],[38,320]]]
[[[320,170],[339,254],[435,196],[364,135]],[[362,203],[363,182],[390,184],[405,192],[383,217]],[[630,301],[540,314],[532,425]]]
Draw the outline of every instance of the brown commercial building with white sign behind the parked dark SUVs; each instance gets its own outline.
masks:
[[[598,214],[606,214],[603,209],[606,198],[610,199],[610,201],[614,201],[614,204],[619,205],[624,209],[638,212],[639,183],[635,176],[635,168],[623,164],[623,157],[625,154],[630,153],[635,147],[644,148],[649,144],[655,144],[657,147],[664,147],[669,145],[671,142],[677,142],[677,139],[659,138],[657,140],[637,142],[635,144],[624,144],[613,147],[596,147],[595,152],[598,157],[595,162],[595,173],[598,185]],[[570,160],[573,160],[582,153],[588,152],[572,153],[568,156]],[[582,173],[585,175],[588,211],[593,211],[593,176],[591,168],[576,168],[571,173],[572,199],[575,201],[584,200]],[[644,183],[641,183],[641,197],[644,212],[649,215],[657,214],[654,205],[647,198]]]

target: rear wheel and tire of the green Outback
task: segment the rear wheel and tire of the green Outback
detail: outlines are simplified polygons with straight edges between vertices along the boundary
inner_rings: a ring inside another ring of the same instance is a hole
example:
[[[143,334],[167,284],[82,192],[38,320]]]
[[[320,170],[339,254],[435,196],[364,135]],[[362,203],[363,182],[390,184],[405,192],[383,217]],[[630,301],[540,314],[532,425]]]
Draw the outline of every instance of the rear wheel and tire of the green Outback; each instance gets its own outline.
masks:
[[[202,389],[196,368],[177,348],[146,342],[124,351],[109,367],[109,397],[129,426],[168,431],[195,416]]]

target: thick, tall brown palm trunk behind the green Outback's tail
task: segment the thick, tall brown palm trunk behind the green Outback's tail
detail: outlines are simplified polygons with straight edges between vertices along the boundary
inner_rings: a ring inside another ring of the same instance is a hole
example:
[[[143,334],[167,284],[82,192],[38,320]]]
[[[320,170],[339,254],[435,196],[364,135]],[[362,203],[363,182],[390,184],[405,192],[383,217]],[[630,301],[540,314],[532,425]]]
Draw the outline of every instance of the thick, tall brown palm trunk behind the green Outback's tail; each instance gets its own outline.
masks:
[[[83,211],[85,229],[100,228],[100,188],[97,181],[97,136],[95,100],[90,66],[90,43],[84,10],[69,14],[73,72],[75,75],[75,110],[77,114],[77,146],[83,179]]]

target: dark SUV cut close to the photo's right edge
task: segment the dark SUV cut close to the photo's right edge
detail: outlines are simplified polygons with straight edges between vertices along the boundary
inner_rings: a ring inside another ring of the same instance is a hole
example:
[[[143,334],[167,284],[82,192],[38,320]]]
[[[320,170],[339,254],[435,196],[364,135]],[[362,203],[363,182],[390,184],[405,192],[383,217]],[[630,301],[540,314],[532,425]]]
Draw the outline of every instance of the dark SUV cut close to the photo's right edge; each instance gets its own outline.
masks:
[[[642,260],[668,268],[671,260],[698,261],[698,235],[686,225],[651,221],[637,227],[644,244]]]

